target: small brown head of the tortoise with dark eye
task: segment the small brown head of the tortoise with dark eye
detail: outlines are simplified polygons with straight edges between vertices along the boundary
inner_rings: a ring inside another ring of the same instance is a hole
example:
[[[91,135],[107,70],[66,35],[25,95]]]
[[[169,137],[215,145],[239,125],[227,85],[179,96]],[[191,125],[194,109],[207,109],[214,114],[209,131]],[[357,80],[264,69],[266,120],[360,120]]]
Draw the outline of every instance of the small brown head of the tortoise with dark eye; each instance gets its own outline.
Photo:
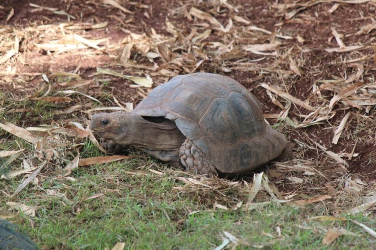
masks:
[[[132,113],[129,112],[95,114],[92,117],[90,129],[99,137],[116,142],[117,139],[127,135],[132,121]]]

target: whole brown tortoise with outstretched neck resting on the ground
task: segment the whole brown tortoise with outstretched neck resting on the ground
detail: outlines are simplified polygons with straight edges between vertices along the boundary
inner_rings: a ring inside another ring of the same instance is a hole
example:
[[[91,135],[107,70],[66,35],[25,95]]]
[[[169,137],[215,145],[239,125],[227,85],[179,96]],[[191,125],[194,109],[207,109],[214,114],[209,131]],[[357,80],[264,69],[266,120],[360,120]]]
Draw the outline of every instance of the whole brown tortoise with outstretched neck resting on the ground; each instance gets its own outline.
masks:
[[[217,74],[176,76],[132,112],[93,115],[90,127],[109,152],[133,146],[207,176],[244,174],[291,156],[286,137],[266,124],[256,97]]]

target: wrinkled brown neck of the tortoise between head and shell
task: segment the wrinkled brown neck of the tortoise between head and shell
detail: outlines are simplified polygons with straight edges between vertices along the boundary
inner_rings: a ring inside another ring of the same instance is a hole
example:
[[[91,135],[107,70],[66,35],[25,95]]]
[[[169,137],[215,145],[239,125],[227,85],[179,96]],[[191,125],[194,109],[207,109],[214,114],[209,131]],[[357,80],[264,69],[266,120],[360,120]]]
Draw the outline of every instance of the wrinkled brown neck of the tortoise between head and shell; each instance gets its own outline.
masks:
[[[147,150],[179,150],[185,136],[176,124],[164,119],[154,123],[143,119],[135,113],[127,114],[127,123],[120,129],[116,138],[111,138],[117,144],[130,145]]]

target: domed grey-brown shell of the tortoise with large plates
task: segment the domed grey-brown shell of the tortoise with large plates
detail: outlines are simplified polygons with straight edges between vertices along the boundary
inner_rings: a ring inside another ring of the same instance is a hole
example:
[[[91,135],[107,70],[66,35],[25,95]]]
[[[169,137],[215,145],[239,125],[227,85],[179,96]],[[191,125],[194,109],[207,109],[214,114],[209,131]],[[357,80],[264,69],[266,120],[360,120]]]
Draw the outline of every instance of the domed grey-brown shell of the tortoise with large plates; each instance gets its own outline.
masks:
[[[220,173],[246,173],[279,157],[287,145],[285,136],[265,123],[256,97],[216,74],[174,77],[133,112],[174,121]]]

